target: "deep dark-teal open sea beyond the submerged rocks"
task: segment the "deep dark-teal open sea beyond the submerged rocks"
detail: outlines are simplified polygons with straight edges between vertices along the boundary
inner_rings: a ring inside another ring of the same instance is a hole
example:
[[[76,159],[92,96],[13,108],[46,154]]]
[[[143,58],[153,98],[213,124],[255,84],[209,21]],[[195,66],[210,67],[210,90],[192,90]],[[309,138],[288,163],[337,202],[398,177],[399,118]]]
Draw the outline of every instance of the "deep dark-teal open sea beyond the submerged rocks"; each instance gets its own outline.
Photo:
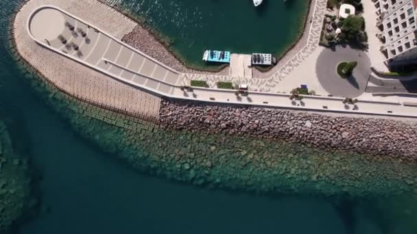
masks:
[[[20,126],[14,140],[25,142],[43,174],[45,207],[21,233],[416,233],[414,195],[342,203],[310,194],[254,196],[130,169],[81,138],[23,78],[6,50],[18,3],[0,3],[0,107]]]

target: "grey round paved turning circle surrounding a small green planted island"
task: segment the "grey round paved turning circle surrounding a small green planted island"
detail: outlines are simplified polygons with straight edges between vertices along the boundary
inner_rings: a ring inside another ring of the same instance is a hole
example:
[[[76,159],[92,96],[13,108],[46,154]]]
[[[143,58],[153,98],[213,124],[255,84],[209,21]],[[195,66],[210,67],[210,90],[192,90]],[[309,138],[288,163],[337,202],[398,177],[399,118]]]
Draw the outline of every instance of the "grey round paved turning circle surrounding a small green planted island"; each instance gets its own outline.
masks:
[[[340,62],[346,61],[356,61],[357,66],[351,77],[342,79],[337,75],[336,68]],[[350,47],[324,49],[318,57],[315,73],[324,90],[333,96],[353,98],[365,92],[370,75],[370,59],[364,51]]]

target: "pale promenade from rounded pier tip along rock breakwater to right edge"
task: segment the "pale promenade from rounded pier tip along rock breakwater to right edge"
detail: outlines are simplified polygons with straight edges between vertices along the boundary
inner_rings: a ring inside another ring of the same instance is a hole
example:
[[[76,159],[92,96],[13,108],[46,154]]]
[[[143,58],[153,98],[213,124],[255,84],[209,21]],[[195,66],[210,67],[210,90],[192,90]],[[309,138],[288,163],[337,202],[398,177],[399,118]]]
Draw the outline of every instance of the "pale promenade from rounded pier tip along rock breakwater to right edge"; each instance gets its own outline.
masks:
[[[53,30],[53,33],[47,32],[52,27],[49,24],[53,24],[56,21],[53,21],[51,18],[49,21],[43,21],[43,17],[37,18],[41,15],[37,16],[36,14],[43,10],[49,13],[53,12],[51,16],[58,15],[58,13],[64,14],[65,21],[69,22],[70,25],[65,24],[64,28],[60,26],[57,30]],[[405,106],[398,101],[359,101],[357,105],[350,107],[342,103],[342,98],[327,96],[304,96],[304,99],[301,101],[295,101],[289,99],[289,94],[276,94],[272,92],[250,92],[250,96],[245,97],[235,96],[235,90],[213,88],[193,88],[193,92],[187,92],[182,90],[181,86],[178,85],[176,78],[180,74],[176,70],[160,64],[160,62],[144,55],[141,51],[133,49],[129,45],[106,34],[102,29],[95,27],[91,23],[82,21],[80,18],[65,10],[50,5],[43,5],[40,8],[34,9],[28,17],[27,34],[32,36],[32,39],[40,47],[54,51],[62,57],[70,58],[78,62],[79,66],[84,65],[92,70],[97,70],[99,73],[107,75],[108,79],[122,81],[132,87],[145,89],[161,96],[168,96],[175,99],[246,104],[261,107],[417,117],[417,112],[414,109],[416,107]],[[36,27],[36,25],[43,25],[44,27]],[[78,30],[79,27],[82,31]],[[74,31],[78,34],[74,34]],[[86,36],[83,36],[83,32]],[[44,35],[47,35],[47,38],[43,38]],[[67,41],[62,42],[60,35],[63,35]],[[86,40],[86,38],[90,40]],[[66,46],[68,44],[71,44],[71,47],[67,48]],[[74,47],[74,44],[77,47]],[[78,53],[79,51],[81,51],[81,54]],[[140,57],[135,60],[132,59],[134,56]],[[169,89],[161,89],[160,87],[163,85],[169,86]]]

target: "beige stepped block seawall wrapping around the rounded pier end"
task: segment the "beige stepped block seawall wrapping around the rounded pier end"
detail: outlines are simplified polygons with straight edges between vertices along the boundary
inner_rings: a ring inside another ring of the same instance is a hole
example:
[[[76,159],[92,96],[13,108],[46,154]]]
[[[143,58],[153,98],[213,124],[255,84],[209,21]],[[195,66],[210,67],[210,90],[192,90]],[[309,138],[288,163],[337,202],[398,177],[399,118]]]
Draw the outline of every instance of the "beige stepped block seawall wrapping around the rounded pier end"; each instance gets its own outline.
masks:
[[[119,39],[136,27],[134,21],[95,0],[31,0],[16,13],[12,38],[21,58],[63,92],[100,107],[158,120],[159,97],[68,60],[34,42],[27,34],[27,19],[41,5],[56,5],[98,27],[105,27],[112,36]]]

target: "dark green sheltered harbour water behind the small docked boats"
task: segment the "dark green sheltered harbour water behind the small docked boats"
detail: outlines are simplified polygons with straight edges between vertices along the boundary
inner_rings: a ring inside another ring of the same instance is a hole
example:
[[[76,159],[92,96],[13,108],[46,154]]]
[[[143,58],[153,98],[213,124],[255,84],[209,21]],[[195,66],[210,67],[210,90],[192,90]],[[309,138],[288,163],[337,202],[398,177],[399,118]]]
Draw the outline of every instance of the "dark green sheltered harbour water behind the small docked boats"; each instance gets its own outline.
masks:
[[[206,49],[233,53],[283,53],[299,35],[307,0],[106,0],[139,14],[174,40],[172,48],[191,64]]]

